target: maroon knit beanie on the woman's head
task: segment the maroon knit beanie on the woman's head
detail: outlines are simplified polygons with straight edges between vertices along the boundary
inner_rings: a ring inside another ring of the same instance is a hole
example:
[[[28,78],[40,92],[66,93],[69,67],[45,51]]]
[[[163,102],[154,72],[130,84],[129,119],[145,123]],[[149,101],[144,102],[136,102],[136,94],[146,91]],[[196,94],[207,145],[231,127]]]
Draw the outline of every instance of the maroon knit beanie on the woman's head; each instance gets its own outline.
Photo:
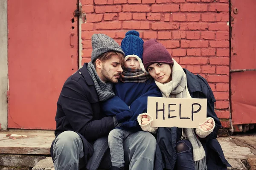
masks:
[[[143,64],[147,70],[149,65],[156,62],[173,65],[172,57],[167,49],[156,39],[150,39],[143,45]]]

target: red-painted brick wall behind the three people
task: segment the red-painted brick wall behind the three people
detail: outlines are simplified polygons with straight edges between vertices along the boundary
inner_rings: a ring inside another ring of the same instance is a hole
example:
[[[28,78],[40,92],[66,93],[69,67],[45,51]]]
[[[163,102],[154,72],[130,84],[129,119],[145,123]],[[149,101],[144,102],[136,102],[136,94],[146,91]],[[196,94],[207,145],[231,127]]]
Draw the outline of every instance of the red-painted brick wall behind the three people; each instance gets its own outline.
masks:
[[[229,127],[229,4],[228,0],[81,0],[82,62],[90,61],[91,41],[103,33],[119,44],[128,30],[144,41],[156,38],[176,61],[209,82],[215,111]]]

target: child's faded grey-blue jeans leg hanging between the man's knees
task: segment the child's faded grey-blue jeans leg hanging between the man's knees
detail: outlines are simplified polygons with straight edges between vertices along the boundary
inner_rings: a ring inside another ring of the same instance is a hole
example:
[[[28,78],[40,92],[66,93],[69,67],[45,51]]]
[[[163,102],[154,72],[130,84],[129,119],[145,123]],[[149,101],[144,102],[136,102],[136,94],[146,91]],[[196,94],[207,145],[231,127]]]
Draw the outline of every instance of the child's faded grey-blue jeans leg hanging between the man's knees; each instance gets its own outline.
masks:
[[[108,134],[108,146],[111,155],[111,164],[114,167],[125,167],[125,153],[123,141],[131,132],[122,129],[113,129]]]

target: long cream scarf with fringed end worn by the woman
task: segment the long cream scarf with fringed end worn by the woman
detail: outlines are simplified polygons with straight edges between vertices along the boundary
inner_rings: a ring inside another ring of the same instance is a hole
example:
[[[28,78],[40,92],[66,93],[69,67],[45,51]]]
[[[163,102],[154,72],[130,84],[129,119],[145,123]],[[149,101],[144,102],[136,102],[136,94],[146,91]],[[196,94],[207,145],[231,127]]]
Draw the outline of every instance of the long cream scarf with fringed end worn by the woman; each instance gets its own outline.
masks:
[[[174,60],[172,67],[172,81],[166,84],[155,81],[160,88],[163,97],[191,98],[188,88],[186,74],[181,66]],[[195,136],[193,128],[183,128],[183,136],[189,139],[193,148],[193,160],[196,170],[207,170],[204,147]],[[182,137],[183,138],[183,137]]]

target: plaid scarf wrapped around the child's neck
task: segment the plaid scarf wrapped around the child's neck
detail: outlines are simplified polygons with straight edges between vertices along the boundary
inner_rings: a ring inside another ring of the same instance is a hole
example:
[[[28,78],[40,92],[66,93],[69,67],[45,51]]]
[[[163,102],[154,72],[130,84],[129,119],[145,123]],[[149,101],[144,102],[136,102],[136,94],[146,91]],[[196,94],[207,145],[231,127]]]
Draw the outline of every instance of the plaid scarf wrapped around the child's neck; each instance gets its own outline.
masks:
[[[144,72],[142,68],[123,68],[121,75],[122,82],[145,82],[150,78],[148,72]]]

